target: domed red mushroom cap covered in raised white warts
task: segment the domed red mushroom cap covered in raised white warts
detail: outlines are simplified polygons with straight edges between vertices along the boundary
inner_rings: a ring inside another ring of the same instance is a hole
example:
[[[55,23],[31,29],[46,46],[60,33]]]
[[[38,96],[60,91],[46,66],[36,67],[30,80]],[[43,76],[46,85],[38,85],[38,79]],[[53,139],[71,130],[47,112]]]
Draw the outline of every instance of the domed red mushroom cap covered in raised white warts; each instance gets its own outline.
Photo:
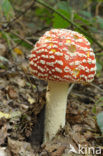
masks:
[[[91,82],[96,73],[96,60],[82,34],[52,29],[35,44],[30,67],[32,74],[44,80]]]

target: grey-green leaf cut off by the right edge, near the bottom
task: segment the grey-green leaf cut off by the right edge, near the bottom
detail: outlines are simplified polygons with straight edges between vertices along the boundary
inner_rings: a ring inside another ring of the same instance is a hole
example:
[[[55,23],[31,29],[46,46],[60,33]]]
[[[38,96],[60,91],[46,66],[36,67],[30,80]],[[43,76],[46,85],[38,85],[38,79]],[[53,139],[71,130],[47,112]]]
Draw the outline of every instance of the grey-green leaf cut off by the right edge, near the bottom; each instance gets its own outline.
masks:
[[[97,118],[97,124],[100,128],[102,135],[103,135],[103,112],[100,112],[96,118]]]

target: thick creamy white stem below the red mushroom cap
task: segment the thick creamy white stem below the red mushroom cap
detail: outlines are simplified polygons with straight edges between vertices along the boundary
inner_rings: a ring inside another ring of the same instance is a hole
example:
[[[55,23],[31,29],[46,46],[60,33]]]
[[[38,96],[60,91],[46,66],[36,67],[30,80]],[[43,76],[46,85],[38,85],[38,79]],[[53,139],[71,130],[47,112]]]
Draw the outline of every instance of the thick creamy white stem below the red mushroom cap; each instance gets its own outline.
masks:
[[[67,95],[67,82],[48,82],[44,142],[50,141],[65,125]]]

